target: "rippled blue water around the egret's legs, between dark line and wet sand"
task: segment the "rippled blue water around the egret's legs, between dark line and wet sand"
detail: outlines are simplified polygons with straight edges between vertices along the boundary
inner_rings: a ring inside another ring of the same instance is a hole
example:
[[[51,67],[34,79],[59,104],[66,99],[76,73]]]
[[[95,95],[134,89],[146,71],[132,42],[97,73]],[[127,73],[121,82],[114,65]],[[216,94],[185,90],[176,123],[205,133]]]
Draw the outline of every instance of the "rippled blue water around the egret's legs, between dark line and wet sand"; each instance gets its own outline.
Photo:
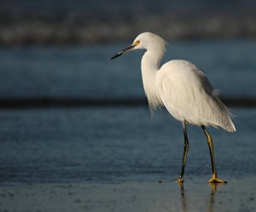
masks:
[[[236,111],[236,134],[210,129],[219,175],[256,175],[255,109]],[[0,111],[0,179],[73,182],[176,179],[182,126],[166,111],[102,107]],[[211,175],[205,135],[189,127],[186,177]]]

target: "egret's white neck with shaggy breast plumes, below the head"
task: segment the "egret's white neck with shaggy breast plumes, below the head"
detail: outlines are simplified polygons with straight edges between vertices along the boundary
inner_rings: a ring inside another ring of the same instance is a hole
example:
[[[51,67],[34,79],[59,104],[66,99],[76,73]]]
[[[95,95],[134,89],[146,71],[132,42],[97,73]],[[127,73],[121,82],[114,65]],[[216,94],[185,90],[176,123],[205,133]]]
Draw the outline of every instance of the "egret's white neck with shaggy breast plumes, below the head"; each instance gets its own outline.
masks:
[[[160,95],[158,94],[158,88],[156,86],[156,76],[160,70],[160,61],[162,57],[163,54],[157,54],[157,52],[152,50],[148,50],[143,55],[143,87],[148,98],[150,109],[156,109],[161,105]]]

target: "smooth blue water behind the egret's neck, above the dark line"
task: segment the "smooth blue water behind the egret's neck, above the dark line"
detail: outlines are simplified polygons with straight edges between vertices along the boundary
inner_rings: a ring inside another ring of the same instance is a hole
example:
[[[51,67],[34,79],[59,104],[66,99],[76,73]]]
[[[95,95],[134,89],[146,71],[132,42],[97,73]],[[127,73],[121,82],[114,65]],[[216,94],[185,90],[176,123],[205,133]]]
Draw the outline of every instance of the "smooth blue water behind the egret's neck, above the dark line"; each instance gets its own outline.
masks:
[[[0,49],[0,97],[143,97],[142,51],[109,60],[130,43]],[[169,42],[164,62],[190,60],[220,95],[255,97],[256,42]]]

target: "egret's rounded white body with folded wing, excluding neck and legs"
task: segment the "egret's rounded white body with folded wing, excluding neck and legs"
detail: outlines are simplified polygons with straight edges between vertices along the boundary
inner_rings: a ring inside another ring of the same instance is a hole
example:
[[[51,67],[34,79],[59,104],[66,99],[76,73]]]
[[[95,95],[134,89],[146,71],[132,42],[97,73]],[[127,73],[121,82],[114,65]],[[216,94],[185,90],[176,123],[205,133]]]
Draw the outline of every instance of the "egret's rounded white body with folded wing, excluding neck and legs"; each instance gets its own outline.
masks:
[[[229,131],[235,129],[226,106],[218,99],[204,72],[189,61],[166,63],[160,69],[157,84],[166,109],[178,120],[221,126]]]

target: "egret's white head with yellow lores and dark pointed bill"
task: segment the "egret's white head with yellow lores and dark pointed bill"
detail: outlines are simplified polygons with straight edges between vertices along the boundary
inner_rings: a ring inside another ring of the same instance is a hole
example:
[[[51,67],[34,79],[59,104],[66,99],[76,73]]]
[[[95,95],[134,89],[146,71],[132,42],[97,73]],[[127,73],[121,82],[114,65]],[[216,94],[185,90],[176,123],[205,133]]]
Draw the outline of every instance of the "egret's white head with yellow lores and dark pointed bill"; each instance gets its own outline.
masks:
[[[111,60],[131,50],[158,49],[158,47],[160,46],[161,46],[161,49],[166,50],[166,41],[163,38],[151,32],[143,32],[135,38],[134,42],[130,46],[119,51],[118,54],[114,54]]]

